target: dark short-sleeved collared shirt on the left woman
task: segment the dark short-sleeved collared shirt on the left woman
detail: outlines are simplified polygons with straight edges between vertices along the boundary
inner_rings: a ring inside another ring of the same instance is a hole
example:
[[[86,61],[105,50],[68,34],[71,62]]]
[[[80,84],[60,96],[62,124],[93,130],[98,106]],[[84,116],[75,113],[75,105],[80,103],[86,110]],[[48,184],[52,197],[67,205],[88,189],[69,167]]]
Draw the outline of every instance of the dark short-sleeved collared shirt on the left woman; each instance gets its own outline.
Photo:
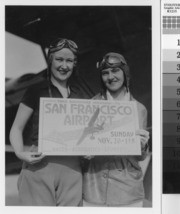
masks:
[[[69,87],[69,90],[70,93],[68,98],[83,98],[81,91],[79,91],[77,88]],[[29,87],[25,92],[21,103],[33,109],[29,131],[31,132],[30,142],[31,144],[36,146],[38,145],[40,97],[63,98],[58,88],[47,80],[43,81],[40,84]]]

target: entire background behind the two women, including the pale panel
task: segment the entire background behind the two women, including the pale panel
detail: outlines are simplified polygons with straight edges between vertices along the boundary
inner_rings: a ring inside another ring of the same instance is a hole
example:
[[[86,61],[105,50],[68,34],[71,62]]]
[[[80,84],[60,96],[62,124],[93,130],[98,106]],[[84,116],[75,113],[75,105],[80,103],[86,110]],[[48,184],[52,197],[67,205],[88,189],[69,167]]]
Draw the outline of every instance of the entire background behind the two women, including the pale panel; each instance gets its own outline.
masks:
[[[22,164],[10,146],[9,131],[27,87],[46,78],[47,48],[55,38],[72,39],[78,44],[78,72],[72,84],[83,89],[87,98],[100,89],[97,61],[107,52],[122,53],[130,66],[130,90],[146,106],[151,127],[151,12],[150,6],[5,7],[6,205],[18,205],[16,182]],[[26,146],[29,133],[28,124]],[[144,206],[151,206],[151,158],[146,162]]]

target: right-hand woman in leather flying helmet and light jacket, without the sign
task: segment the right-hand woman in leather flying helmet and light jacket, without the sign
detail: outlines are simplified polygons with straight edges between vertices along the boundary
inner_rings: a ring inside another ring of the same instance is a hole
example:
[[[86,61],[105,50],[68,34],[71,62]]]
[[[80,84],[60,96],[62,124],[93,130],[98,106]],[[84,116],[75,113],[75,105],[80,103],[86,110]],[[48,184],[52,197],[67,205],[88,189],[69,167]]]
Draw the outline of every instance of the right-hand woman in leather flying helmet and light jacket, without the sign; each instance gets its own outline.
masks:
[[[143,173],[139,161],[148,153],[147,110],[129,91],[129,66],[119,53],[110,52],[97,64],[103,83],[94,99],[136,101],[141,156],[90,156],[83,179],[83,206],[142,207]]]

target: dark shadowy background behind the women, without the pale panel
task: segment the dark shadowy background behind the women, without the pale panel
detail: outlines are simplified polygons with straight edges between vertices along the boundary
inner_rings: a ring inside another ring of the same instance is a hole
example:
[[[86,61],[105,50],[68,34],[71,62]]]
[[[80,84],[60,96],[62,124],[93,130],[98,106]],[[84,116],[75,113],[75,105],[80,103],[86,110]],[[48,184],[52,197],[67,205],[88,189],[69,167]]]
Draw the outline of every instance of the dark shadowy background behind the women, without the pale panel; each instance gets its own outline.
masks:
[[[45,48],[54,38],[74,40],[80,50],[79,76],[74,84],[84,89],[87,98],[100,89],[96,62],[110,51],[123,54],[130,66],[130,90],[146,106],[148,126],[151,126],[151,18],[150,6],[6,6],[5,30],[40,44],[44,56]],[[7,87],[6,145],[10,144],[9,130],[25,89],[42,81],[45,75],[46,71],[26,74]],[[12,154],[6,153],[7,172],[16,167],[11,159]]]

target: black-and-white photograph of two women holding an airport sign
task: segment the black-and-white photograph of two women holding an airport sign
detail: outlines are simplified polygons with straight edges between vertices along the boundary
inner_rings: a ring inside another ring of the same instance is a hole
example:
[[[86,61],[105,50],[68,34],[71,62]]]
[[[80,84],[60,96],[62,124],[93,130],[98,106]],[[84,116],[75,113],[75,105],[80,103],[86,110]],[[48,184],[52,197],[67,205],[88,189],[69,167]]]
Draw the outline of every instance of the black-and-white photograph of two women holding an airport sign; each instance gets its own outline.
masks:
[[[155,207],[154,11],[4,6],[6,207]]]

